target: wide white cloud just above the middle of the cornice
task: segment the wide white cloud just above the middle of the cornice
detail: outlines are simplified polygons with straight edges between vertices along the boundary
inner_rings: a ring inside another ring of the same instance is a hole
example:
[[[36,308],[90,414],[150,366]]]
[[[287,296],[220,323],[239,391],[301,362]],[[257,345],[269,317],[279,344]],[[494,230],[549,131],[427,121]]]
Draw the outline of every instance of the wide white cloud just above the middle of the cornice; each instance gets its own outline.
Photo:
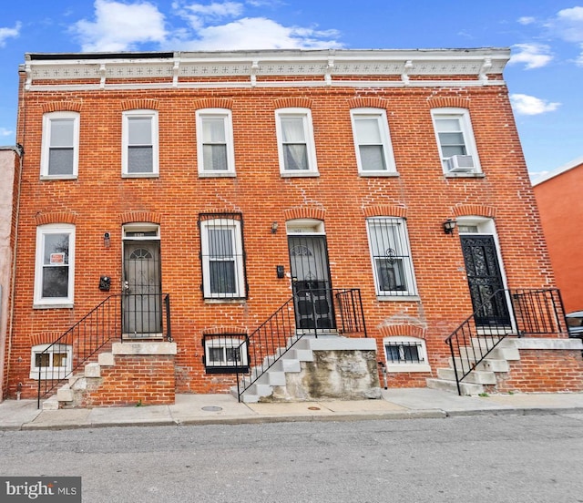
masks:
[[[197,32],[195,40],[179,42],[187,50],[229,49],[318,49],[338,48],[335,30],[317,30],[298,26],[281,26],[264,17],[244,17],[221,26],[207,26]]]

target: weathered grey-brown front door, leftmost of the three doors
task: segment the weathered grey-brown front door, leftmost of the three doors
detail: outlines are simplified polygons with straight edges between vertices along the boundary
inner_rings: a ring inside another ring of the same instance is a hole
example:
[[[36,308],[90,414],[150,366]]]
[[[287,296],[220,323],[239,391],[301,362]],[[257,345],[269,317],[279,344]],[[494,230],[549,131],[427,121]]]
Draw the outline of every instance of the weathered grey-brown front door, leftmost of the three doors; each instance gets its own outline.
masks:
[[[159,241],[124,242],[123,332],[162,333]]]

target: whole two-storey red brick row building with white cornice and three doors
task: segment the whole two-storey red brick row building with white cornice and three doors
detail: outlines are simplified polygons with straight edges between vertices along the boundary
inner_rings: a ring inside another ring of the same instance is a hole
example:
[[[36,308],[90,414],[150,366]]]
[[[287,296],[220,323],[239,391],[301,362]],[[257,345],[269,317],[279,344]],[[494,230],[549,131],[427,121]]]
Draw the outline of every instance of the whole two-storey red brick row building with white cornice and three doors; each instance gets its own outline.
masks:
[[[473,304],[498,288],[554,286],[502,77],[508,57],[27,55],[5,393],[22,383],[34,395],[36,379],[81,358],[105,325],[156,339],[169,320],[175,345],[162,359],[175,373],[163,365],[163,393],[227,392],[236,368],[261,363],[268,330],[362,336],[350,289],[377,349],[359,362],[375,373],[381,361],[390,385],[424,386]],[[506,305],[493,309],[476,323],[511,324]],[[259,327],[264,342],[241,355]],[[135,347],[119,356],[131,370],[106,380],[151,371],[157,357]]]

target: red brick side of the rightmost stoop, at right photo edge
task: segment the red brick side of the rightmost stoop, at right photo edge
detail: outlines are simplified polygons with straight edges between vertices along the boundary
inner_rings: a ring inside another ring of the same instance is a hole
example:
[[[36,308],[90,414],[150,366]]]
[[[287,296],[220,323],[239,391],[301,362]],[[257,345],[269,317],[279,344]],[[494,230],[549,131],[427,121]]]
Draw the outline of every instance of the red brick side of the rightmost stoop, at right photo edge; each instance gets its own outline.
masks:
[[[521,349],[520,360],[508,364],[507,376],[498,376],[498,392],[583,391],[583,365],[578,350]]]

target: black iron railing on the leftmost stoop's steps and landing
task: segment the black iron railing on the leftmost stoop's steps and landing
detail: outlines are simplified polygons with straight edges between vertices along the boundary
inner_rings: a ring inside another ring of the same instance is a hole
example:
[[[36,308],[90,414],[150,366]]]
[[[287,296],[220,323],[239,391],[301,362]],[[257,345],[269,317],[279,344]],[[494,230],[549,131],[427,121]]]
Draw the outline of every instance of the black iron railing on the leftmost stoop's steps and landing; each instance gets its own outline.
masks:
[[[110,295],[56,341],[35,354],[37,406],[40,407],[43,397],[110,342],[152,338],[172,340],[169,294]]]

